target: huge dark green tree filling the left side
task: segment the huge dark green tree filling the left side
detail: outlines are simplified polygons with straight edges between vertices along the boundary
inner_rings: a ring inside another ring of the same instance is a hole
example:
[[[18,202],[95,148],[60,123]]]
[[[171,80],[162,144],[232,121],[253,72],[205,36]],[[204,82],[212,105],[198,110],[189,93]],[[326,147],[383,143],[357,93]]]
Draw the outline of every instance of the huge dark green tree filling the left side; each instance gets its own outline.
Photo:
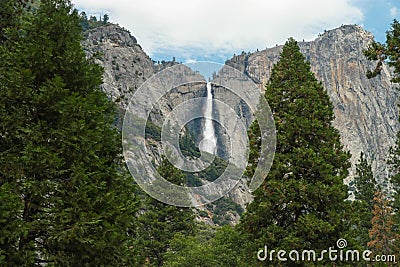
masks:
[[[0,265],[133,265],[133,180],[78,13],[42,0],[16,20],[1,29]]]

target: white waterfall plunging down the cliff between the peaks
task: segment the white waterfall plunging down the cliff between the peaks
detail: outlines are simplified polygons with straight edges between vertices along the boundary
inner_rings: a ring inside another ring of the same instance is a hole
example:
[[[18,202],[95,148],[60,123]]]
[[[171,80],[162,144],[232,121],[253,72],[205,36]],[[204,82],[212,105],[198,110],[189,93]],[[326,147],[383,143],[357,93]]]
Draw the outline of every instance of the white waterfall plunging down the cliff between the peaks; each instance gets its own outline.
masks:
[[[204,116],[206,117],[206,121],[204,123],[204,131],[203,131],[203,140],[200,142],[200,150],[215,154],[215,148],[217,145],[217,138],[215,137],[214,124],[212,119],[212,92],[211,92],[211,83],[207,83],[207,102],[205,107]]]

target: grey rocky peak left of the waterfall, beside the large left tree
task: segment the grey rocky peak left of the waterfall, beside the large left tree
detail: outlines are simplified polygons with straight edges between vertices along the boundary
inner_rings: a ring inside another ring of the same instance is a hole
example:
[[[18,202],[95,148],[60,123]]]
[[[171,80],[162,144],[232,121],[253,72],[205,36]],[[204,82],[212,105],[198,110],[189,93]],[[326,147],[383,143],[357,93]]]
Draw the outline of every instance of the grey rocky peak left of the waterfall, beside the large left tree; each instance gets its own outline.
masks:
[[[102,90],[122,109],[139,86],[154,74],[155,66],[136,38],[115,24],[85,33],[83,41],[88,56],[104,67]]]

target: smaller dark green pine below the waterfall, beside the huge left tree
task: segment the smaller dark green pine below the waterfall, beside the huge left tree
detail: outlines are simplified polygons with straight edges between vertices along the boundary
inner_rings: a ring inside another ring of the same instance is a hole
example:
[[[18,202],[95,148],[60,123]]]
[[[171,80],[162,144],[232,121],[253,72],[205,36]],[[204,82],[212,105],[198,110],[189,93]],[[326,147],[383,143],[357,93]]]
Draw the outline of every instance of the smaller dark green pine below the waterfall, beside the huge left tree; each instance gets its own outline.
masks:
[[[164,159],[157,169],[169,182],[183,185],[184,175],[168,160]],[[189,236],[195,231],[194,213],[147,197],[143,215],[139,217],[139,239],[141,256],[146,266],[163,266],[164,255],[176,234]]]

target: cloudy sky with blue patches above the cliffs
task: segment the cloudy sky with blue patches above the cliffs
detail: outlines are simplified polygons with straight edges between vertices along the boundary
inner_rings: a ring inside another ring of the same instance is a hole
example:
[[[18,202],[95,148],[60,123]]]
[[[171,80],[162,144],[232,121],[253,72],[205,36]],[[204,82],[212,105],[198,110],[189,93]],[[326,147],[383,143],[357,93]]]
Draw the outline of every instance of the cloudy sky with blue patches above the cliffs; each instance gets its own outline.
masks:
[[[400,0],[72,0],[79,10],[130,30],[153,60],[215,61],[283,44],[313,40],[324,30],[358,24],[378,41]]]

